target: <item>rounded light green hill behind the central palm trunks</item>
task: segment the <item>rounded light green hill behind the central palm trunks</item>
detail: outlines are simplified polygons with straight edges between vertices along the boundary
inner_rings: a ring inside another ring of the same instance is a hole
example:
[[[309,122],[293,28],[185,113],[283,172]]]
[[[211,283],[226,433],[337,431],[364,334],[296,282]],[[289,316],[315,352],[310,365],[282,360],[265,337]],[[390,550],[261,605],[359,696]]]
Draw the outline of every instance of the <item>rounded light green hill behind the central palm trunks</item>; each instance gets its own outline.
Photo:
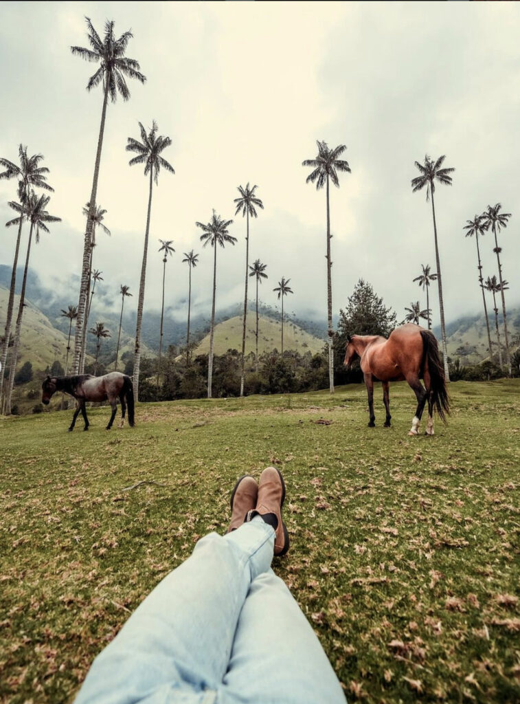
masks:
[[[246,354],[255,352],[255,313],[248,313],[246,329]],[[221,355],[229,349],[242,349],[242,318],[224,320],[215,326],[215,354]],[[292,322],[284,323],[284,349],[295,350],[301,354],[311,352],[315,354],[324,346],[324,342],[313,337],[305,330],[293,325]],[[281,348],[281,323],[267,315],[260,315],[258,319],[258,353],[270,352],[274,348]],[[208,354],[210,351],[210,336],[207,334],[198,344],[195,354]]]

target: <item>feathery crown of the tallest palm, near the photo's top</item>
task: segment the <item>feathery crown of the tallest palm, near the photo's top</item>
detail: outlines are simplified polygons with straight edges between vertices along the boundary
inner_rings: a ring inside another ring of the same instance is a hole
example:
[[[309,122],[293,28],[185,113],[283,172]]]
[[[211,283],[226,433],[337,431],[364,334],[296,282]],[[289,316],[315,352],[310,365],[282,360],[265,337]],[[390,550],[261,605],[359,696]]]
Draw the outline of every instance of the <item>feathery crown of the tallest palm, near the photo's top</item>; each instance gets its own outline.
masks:
[[[110,100],[113,103],[115,103],[118,93],[123,100],[128,100],[130,92],[125,77],[135,78],[141,83],[146,81],[146,76],[139,71],[139,61],[125,56],[128,42],[134,35],[132,32],[125,32],[121,34],[119,39],[116,39],[114,36],[114,23],[107,20],[105,23],[105,36],[101,39],[92,26],[90,18],[86,17],[85,20],[89,30],[87,37],[91,48],[85,49],[82,46],[71,46],[70,50],[72,54],[81,56],[85,61],[101,64],[96,73],[89,78],[87,90],[90,91],[103,81],[103,87],[108,86]]]

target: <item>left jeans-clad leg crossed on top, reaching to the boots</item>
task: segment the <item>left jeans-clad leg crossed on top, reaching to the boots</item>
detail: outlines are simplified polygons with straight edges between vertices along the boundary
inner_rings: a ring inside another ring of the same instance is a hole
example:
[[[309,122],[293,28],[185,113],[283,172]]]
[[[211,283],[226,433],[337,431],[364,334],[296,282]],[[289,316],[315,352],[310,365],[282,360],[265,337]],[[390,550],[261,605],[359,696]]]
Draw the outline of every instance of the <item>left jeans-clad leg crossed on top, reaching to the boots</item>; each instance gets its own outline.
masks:
[[[98,655],[76,704],[166,702],[174,691],[175,701],[213,702],[244,600],[273,546],[274,529],[260,516],[198,541]]]

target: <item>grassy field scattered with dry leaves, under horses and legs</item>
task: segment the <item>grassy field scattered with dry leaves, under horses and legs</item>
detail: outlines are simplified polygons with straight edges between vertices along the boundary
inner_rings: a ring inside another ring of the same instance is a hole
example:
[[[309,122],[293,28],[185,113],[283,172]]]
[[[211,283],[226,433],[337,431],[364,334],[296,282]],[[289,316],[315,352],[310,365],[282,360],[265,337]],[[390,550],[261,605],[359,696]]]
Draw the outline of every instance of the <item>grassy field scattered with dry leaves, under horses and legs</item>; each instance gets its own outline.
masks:
[[[520,381],[451,384],[410,438],[391,389],[70,411],[0,421],[0,701],[69,700],[89,663],[205,533],[243,472],[284,473],[291,587],[349,701],[520,700]],[[325,425],[319,420],[329,420]],[[150,482],[139,484],[138,482]],[[151,483],[155,482],[155,483]],[[323,703],[326,704],[326,703]]]

